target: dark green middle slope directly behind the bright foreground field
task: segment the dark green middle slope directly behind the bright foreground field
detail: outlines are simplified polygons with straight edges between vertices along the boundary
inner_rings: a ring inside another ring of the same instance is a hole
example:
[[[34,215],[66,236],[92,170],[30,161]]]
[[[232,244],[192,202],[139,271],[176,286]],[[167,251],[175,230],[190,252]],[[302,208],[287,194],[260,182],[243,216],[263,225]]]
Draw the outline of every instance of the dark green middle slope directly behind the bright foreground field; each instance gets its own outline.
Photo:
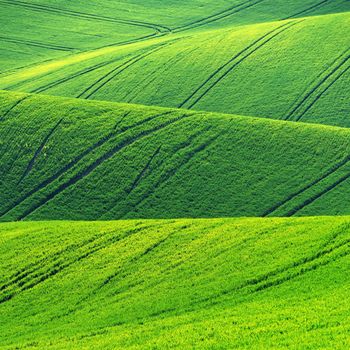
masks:
[[[0,101],[3,221],[350,213],[347,129],[9,92]]]

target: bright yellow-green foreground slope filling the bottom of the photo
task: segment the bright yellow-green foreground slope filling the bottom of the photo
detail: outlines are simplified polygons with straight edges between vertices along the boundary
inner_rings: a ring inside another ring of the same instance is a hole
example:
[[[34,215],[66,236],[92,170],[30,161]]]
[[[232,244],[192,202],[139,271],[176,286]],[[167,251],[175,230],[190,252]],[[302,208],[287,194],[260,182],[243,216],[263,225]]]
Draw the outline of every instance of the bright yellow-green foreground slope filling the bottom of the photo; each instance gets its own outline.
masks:
[[[3,349],[346,349],[348,217],[0,225]]]

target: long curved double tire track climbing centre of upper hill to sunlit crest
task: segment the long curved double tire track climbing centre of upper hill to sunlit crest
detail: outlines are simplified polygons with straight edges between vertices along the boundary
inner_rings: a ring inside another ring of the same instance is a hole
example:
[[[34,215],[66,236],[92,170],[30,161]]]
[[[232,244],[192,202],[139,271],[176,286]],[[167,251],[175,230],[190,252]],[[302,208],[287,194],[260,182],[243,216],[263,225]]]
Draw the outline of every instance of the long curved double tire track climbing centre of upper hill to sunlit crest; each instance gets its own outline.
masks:
[[[193,108],[210,90],[221,82],[229,73],[231,73],[239,64],[245,61],[248,57],[258,51],[261,47],[268,44],[271,40],[284,33],[286,30],[295,26],[301,21],[293,21],[284,23],[277,28],[267,32],[239,53],[234,55],[230,60],[217,68],[196,90],[185,99],[178,107]]]

